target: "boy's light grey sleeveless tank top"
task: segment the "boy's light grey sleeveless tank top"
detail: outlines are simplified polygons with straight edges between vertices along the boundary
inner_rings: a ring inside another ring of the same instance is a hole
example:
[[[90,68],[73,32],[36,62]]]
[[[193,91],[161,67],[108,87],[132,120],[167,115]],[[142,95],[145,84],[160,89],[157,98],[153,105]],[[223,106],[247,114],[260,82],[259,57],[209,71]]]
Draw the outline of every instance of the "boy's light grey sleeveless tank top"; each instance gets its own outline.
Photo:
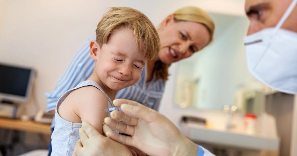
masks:
[[[79,128],[82,127],[81,123],[73,123],[66,121],[61,118],[57,110],[65,98],[75,89],[78,89],[83,86],[94,86],[97,89],[101,90],[108,100],[108,108],[114,107],[111,99],[103,91],[103,89],[94,81],[88,80],[79,83],[75,88],[72,88],[65,92],[56,105],[56,114],[55,114],[55,129],[51,136],[52,141],[52,153],[51,156],[72,156],[76,142],[79,140]],[[108,112],[110,116],[110,112]]]

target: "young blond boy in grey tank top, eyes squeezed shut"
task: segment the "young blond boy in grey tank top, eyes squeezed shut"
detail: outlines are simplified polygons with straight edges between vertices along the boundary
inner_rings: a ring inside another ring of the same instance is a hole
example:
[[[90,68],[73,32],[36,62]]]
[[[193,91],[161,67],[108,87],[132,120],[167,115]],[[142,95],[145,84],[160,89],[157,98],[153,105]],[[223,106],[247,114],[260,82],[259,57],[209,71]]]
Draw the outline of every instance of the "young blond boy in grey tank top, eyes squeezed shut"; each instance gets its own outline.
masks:
[[[110,115],[104,110],[114,107],[118,90],[138,81],[159,48],[157,30],[143,13],[128,7],[106,12],[97,26],[96,41],[90,42],[90,55],[96,61],[92,75],[57,103],[51,155],[72,155],[81,122],[90,123],[103,135],[104,118]]]

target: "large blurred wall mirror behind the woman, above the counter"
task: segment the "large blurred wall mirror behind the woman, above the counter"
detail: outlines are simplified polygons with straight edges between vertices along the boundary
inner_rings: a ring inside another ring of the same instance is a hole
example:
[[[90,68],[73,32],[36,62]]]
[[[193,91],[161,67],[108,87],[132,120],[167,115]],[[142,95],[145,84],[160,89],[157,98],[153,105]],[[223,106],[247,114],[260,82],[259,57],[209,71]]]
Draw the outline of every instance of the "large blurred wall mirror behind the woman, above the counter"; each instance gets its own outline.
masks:
[[[214,13],[210,16],[216,25],[212,43],[178,62],[175,104],[212,110],[236,105],[245,112],[261,112],[263,84],[249,73],[245,59],[244,37],[249,20]]]

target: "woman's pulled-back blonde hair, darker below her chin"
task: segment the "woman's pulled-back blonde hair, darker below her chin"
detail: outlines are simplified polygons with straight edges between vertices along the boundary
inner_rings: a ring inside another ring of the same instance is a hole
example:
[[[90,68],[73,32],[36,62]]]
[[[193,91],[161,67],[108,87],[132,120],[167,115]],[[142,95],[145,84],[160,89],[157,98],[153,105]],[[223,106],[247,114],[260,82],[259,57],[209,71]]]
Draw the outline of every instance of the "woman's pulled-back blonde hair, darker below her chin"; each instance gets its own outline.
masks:
[[[191,22],[197,22],[203,24],[209,34],[210,34],[210,40],[208,44],[212,41],[213,35],[214,35],[214,21],[211,19],[211,17],[206,13],[204,10],[198,8],[198,7],[183,7],[181,9],[176,10],[173,12],[174,20],[176,22],[178,21],[191,21]],[[164,21],[162,21],[163,23]],[[160,29],[162,26],[162,23],[160,23],[157,26],[157,29]],[[207,44],[207,45],[208,45]],[[168,67],[170,64],[165,64],[161,61],[157,61],[155,63],[155,70],[156,70],[156,78],[161,78],[163,80],[168,80]]]

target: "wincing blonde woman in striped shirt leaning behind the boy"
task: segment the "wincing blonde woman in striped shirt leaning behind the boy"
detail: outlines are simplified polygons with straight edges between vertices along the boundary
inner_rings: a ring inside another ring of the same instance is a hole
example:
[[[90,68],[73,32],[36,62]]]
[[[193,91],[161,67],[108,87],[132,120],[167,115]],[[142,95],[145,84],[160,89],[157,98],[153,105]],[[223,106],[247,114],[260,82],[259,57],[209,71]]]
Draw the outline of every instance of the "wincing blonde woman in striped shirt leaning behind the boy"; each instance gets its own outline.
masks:
[[[135,85],[122,89],[116,95],[116,99],[133,100],[156,111],[168,79],[168,67],[171,63],[190,57],[208,45],[213,37],[214,21],[200,8],[184,7],[166,17],[157,30],[161,42],[158,58],[147,63]],[[54,114],[60,96],[85,81],[93,72],[95,62],[89,57],[88,45],[93,39],[95,37],[88,40],[76,54],[53,92],[45,94],[48,112]],[[53,121],[52,130],[54,125]]]

